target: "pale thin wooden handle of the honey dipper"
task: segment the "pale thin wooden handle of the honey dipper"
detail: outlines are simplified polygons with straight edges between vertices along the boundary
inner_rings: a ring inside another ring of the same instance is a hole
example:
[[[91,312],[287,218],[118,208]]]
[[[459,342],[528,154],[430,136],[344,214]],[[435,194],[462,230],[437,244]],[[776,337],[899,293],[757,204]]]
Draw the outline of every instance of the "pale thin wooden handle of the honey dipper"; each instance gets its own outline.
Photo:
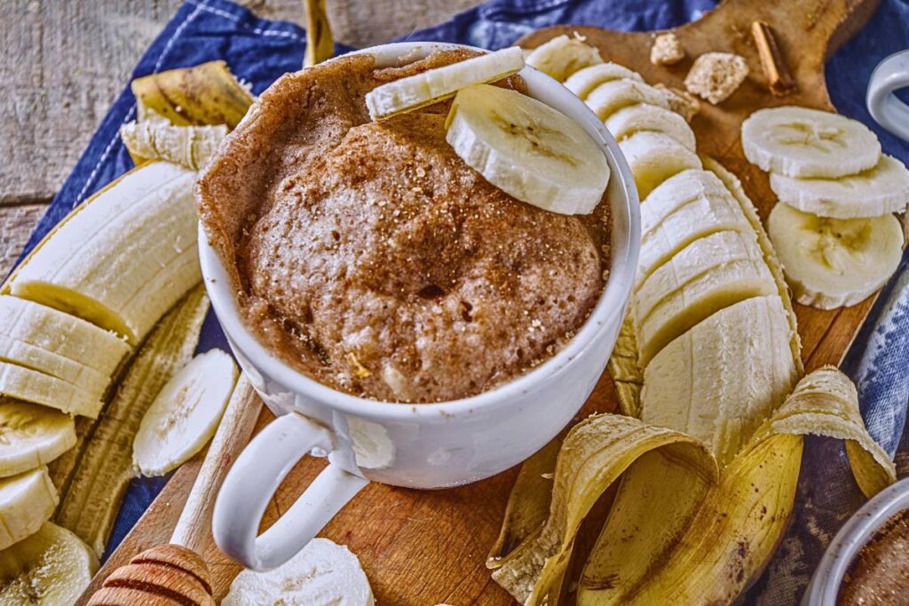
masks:
[[[210,541],[215,497],[231,464],[249,442],[261,410],[262,401],[246,374],[242,373],[205,454],[202,469],[195,478],[180,520],[176,522],[172,543],[200,553]]]

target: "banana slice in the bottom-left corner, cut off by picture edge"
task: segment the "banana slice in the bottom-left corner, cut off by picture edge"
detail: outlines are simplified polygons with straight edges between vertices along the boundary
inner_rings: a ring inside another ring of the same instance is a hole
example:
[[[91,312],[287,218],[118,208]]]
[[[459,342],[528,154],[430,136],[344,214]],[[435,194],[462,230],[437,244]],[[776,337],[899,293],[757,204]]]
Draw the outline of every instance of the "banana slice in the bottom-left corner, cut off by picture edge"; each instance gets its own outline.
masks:
[[[84,542],[51,522],[0,551],[0,604],[71,606],[92,581],[98,560]]]

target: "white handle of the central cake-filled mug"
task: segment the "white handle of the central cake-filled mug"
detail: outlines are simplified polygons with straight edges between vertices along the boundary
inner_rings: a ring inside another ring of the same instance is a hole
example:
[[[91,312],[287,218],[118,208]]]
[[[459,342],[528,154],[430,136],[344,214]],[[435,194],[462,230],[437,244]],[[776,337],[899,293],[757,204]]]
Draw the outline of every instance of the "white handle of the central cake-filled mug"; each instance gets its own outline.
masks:
[[[296,462],[311,451],[333,448],[325,427],[296,412],[269,423],[237,457],[218,492],[212,513],[218,548],[254,571],[271,570],[294,557],[369,483],[329,463],[294,505],[256,536],[268,502]]]

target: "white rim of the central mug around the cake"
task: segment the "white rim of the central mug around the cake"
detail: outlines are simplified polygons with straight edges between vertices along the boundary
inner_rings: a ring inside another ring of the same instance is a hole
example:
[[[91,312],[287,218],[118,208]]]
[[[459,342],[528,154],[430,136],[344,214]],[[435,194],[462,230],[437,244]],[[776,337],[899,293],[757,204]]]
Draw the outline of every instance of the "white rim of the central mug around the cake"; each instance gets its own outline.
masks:
[[[355,54],[369,53],[375,55],[377,62],[381,64],[383,60],[391,61],[419,51],[425,51],[428,54],[432,50],[454,48],[469,48],[485,52],[484,49],[466,45],[406,42],[373,46],[355,51]],[[564,93],[574,98],[574,101],[567,101],[566,97],[567,103],[576,103],[586,109],[584,103],[574,97],[567,89],[564,89],[562,84],[538,72],[529,65],[524,67],[520,75],[540,86],[562,88]],[[375,419],[414,420],[419,418],[424,421],[440,421],[445,420],[446,417],[464,413],[469,414],[481,408],[484,410],[494,409],[497,405],[506,405],[508,402],[512,402],[515,397],[520,397],[522,394],[532,391],[536,383],[549,380],[564,369],[566,365],[571,364],[576,357],[583,355],[588,346],[596,341],[595,336],[597,333],[609,330],[611,326],[614,326],[614,323],[622,322],[622,318],[617,316],[624,313],[625,303],[631,290],[631,284],[634,283],[634,273],[637,268],[637,256],[640,248],[640,211],[638,209],[638,196],[634,185],[634,177],[612,135],[608,134],[602,123],[595,118],[595,115],[589,109],[587,109],[587,112],[594,118],[595,130],[600,134],[601,141],[596,143],[604,151],[607,159],[610,160],[613,169],[611,178],[619,180],[619,192],[610,199],[611,229],[613,230],[610,238],[612,244],[610,273],[603,292],[600,293],[593,311],[581,329],[560,351],[544,361],[544,363],[488,391],[467,398],[445,402],[382,402],[338,391],[310,378],[305,373],[285,363],[275,353],[270,352],[265,344],[261,343],[247,329],[237,309],[232,280],[225,271],[218,253],[208,243],[205,227],[200,223],[198,233],[199,259],[205,289],[215,309],[215,315],[228,339],[233,346],[243,353],[255,369],[268,374],[272,379],[282,383],[291,391],[325,402],[337,411]],[[617,211],[620,211],[624,216],[616,216]],[[615,234],[622,224],[626,225],[625,230],[627,230],[627,233],[624,233],[624,240],[619,238],[622,245],[616,247]],[[554,402],[554,405],[557,405],[557,402]]]

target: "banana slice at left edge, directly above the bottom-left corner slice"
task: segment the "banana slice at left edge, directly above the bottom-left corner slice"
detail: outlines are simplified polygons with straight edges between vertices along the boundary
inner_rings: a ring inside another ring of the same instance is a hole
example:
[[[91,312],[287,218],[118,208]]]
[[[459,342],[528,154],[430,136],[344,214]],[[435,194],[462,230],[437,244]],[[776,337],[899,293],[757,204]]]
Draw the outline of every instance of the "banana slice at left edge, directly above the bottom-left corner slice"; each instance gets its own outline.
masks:
[[[0,550],[37,532],[57,498],[46,467],[0,480]]]

